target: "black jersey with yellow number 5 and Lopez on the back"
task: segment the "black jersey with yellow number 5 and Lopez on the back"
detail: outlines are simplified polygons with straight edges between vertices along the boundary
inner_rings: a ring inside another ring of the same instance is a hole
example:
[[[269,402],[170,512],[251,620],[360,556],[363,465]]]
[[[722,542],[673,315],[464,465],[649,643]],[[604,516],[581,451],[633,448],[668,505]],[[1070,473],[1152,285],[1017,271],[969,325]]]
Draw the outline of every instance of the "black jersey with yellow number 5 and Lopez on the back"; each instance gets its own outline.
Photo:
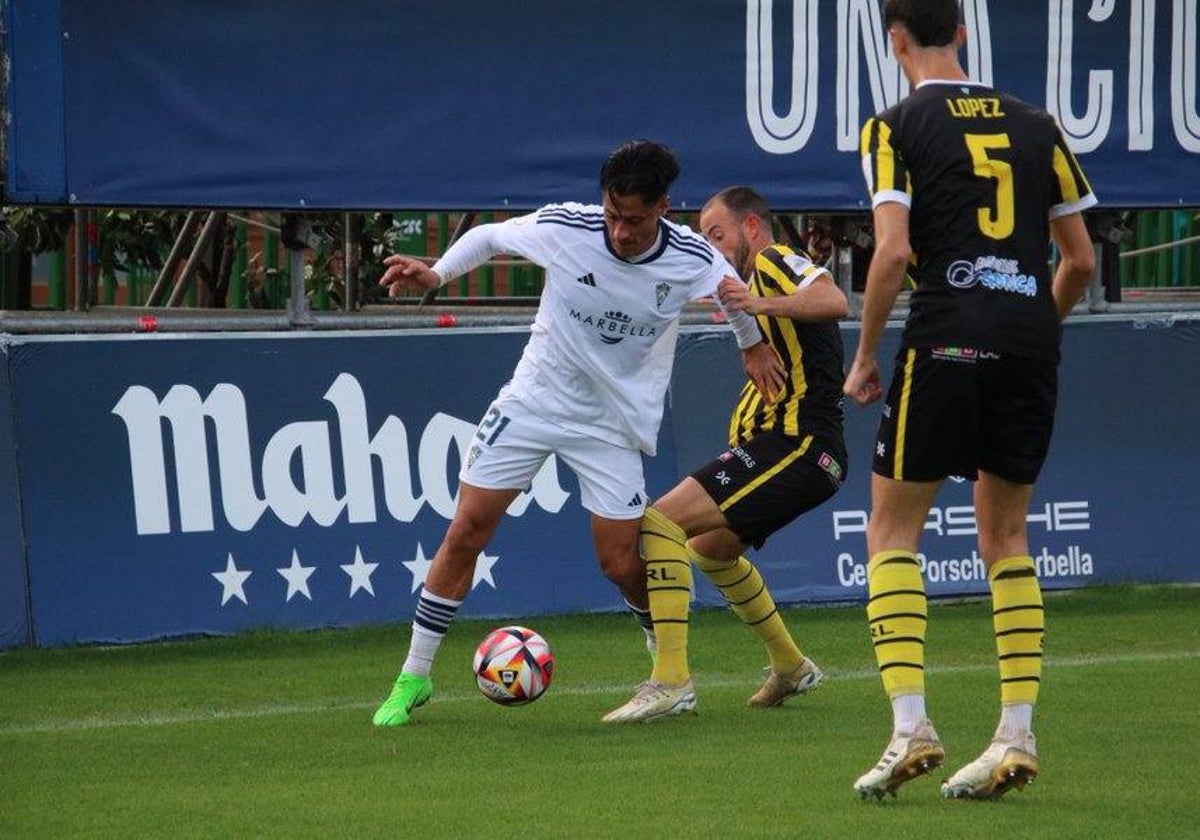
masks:
[[[1055,119],[968,82],[931,80],[866,121],[872,206],[910,208],[905,347],[1057,360],[1050,221],[1096,204]]]

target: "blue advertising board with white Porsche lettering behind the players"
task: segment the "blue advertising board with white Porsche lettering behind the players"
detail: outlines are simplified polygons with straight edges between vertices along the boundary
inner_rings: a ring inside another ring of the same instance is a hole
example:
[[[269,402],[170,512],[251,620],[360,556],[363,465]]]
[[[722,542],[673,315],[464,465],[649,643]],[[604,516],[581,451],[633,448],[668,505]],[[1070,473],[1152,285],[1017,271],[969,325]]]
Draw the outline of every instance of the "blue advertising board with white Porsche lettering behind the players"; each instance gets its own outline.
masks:
[[[844,332],[847,359],[857,328]],[[899,330],[880,354],[890,378]],[[676,451],[688,472],[720,451],[726,419],[713,413],[743,378],[725,361],[726,336],[688,336],[672,384]],[[1195,476],[1200,451],[1200,322],[1068,323],[1050,456],[1028,514],[1030,550],[1046,589],[1100,583],[1200,581]],[[1163,395],[1182,400],[1178,410]],[[709,407],[706,410],[706,406]],[[820,509],[776,534],[758,554],[781,602],[860,601],[866,593],[866,518],[878,403],[846,408],[850,478]],[[922,571],[931,595],[984,594],[973,484],[947,481],[925,523]],[[720,605],[708,587],[702,602]]]

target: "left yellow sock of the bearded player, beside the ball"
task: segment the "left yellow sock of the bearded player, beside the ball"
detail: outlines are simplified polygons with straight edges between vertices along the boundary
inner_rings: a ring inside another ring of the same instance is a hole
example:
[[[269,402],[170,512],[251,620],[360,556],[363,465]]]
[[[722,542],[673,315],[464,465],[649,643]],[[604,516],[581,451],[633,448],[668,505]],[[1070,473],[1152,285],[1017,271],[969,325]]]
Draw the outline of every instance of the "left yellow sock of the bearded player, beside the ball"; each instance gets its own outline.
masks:
[[[688,607],[691,604],[691,563],[688,534],[656,511],[642,518],[642,557],[646,558],[646,590],[650,596],[658,655],[650,679],[665,685],[685,682],[688,667]]]

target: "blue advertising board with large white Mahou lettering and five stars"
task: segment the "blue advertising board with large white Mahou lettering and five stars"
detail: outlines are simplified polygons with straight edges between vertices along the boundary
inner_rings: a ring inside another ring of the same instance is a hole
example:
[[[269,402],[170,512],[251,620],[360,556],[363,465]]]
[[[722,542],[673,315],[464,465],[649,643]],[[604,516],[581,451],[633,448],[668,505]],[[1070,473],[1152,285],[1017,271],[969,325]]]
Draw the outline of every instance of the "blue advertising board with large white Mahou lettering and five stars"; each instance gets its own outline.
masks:
[[[527,337],[14,346],[37,643],[407,619]],[[570,470],[552,458],[509,512],[464,614],[620,606]]]

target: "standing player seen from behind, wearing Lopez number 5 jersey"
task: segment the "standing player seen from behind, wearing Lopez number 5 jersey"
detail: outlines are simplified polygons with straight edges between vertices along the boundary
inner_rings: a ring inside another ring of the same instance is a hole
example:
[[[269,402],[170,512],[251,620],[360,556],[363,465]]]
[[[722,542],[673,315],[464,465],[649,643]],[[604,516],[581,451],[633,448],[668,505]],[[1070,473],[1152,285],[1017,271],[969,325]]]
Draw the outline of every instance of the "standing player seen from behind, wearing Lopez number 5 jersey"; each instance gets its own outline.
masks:
[[[875,217],[863,331],[845,392],[880,398],[875,355],[905,271],[911,310],[875,444],[868,622],[892,700],[892,742],[854,784],[881,797],[938,766],[925,714],[926,600],[917,558],[948,475],[976,481],[1001,676],[1000,725],[944,796],[994,798],[1038,773],[1032,731],[1044,616],[1025,517],[1050,443],[1060,322],[1093,270],[1087,180],[1054,119],[967,79],[958,0],[887,0],[884,24],[913,92],[868,120]],[[1062,259],[1051,277],[1050,240]]]

